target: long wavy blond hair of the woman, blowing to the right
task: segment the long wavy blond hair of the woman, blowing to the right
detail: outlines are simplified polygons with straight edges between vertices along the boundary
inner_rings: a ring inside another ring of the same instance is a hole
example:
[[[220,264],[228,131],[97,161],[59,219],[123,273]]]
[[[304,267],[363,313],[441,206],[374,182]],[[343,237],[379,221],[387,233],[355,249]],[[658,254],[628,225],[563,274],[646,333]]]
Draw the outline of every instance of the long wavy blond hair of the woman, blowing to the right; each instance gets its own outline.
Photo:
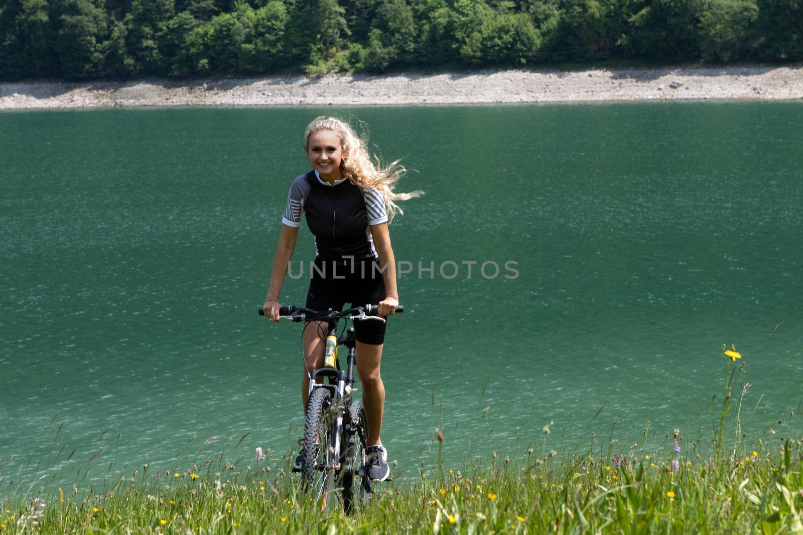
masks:
[[[385,210],[388,213],[388,223],[393,221],[396,213],[404,213],[395,201],[406,201],[413,197],[421,197],[424,192],[414,191],[410,193],[396,193],[393,191],[406,169],[395,160],[385,166],[381,164],[378,156],[373,156],[368,151],[367,140],[357,136],[357,132],[344,120],[336,117],[320,116],[316,117],[304,131],[304,152],[309,149],[309,136],[316,132],[330,130],[340,137],[340,145],[343,148],[343,158],[340,161],[340,171],[347,177],[352,184],[361,188],[376,188],[382,197],[385,197]]]

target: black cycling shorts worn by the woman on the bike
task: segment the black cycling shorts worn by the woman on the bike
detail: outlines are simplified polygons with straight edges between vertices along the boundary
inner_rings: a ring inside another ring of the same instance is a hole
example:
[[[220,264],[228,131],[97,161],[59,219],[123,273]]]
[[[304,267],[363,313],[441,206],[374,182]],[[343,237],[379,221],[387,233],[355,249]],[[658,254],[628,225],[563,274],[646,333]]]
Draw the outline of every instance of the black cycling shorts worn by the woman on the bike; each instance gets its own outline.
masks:
[[[343,310],[349,307],[376,305],[385,298],[385,279],[378,270],[378,261],[321,260],[312,266],[306,307],[312,310]],[[374,346],[385,342],[385,323],[376,320],[354,322],[357,342]]]

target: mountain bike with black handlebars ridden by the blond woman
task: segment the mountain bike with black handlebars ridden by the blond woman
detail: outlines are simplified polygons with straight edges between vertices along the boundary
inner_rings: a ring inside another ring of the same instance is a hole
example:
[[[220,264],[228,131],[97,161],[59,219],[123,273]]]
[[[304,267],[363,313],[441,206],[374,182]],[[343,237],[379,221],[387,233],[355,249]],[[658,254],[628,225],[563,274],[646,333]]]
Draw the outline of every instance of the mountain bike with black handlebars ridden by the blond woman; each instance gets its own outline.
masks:
[[[404,307],[397,306],[396,311],[403,312]],[[308,371],[309,396],[300,470],[302,488],[312,493],[311,497],[320,503],[322,512],[336,501],[338,489],[346,513],[368,505],[372,492],[365,455],[368,419],[362,402],[352,399],[357,339],[353,326],[338,335],[337,323],[340,320],[384,322],[385,318],[373,315],[376,312],[376,305],[355,306],[342,312],[331,309],[320,312],[297,306],[279,309],[279,317],[292,322],[328,324],[324,367]],[[262,309],[259,314],[264,314]],[[340,368],[337,355],[337,347],[341,345],[349,350],[345,370]],[[328,383],[324,383],[324,379]],[[356,477],[360,478],[357,484]]]

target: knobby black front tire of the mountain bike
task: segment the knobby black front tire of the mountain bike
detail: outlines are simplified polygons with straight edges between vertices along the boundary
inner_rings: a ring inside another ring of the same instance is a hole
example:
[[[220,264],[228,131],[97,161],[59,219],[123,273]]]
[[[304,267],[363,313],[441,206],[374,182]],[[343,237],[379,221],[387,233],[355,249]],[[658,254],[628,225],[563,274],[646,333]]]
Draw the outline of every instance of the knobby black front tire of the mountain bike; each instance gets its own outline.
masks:
[[[334,499],[335,474],[332,455],[335,437],[332,428],[332,393],[325,388],[316,388],[309,396],[307,416],[304,419],[303,463],[301,485],[304,492],[312,492],[312,498],[320,502],[324,512]]]

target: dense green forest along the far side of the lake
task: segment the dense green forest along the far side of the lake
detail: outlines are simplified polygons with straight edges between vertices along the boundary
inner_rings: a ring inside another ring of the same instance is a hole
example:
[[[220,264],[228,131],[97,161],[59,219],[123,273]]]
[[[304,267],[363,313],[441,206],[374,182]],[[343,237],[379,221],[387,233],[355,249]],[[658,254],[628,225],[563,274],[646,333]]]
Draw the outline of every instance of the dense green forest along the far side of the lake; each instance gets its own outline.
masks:
[[[0,79],[803,60],[803,0],[0,0]]]

